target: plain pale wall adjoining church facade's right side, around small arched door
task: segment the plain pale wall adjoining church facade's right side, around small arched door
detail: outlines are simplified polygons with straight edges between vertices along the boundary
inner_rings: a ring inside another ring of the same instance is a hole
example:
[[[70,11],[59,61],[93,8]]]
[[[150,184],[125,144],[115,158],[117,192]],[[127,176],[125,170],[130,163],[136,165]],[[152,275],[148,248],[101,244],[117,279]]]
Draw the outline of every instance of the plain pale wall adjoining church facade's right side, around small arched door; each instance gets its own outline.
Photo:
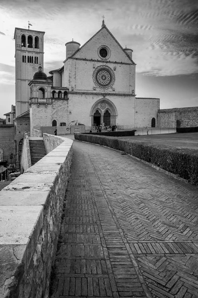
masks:
[[[157,113],[159,110],[159,98],[135,98],[135,127],[151,127],[151,120],[155,118],[155,127],[158,127]]]

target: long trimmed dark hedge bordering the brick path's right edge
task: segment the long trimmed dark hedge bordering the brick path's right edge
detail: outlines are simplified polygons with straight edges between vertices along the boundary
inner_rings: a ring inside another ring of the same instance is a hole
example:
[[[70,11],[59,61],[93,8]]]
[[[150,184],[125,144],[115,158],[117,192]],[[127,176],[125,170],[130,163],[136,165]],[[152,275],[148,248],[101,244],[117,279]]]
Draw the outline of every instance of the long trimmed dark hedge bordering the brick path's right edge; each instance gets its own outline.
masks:
[[[198,185],[198,150],[115,137],[75,134],[75,139],[122,150]]]

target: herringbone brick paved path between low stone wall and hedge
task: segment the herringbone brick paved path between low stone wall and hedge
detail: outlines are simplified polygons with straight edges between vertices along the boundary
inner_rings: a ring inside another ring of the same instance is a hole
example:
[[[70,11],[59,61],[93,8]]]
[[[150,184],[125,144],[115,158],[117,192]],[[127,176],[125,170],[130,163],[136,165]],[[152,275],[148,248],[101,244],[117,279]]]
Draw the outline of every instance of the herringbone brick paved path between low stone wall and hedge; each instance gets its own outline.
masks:
[[[74,141],[51,298],[198,298],[198,188]]]

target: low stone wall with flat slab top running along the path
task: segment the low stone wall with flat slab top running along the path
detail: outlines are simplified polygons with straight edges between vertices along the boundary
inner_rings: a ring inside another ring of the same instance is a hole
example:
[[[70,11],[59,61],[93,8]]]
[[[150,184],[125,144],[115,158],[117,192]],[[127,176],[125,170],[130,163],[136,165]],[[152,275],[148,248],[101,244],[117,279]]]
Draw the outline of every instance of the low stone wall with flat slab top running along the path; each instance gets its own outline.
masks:
[[[52,137],[60,145],[0,191],[0,298],[48,297],[73,142]]]

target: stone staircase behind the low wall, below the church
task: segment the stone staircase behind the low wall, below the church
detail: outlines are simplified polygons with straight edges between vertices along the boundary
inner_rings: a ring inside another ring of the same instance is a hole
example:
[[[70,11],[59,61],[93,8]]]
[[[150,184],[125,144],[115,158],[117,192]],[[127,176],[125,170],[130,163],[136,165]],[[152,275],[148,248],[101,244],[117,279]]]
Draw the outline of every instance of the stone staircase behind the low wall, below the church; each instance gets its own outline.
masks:
[[[35,164],[46,155],[43,138],[29,138],[31,164]]]

